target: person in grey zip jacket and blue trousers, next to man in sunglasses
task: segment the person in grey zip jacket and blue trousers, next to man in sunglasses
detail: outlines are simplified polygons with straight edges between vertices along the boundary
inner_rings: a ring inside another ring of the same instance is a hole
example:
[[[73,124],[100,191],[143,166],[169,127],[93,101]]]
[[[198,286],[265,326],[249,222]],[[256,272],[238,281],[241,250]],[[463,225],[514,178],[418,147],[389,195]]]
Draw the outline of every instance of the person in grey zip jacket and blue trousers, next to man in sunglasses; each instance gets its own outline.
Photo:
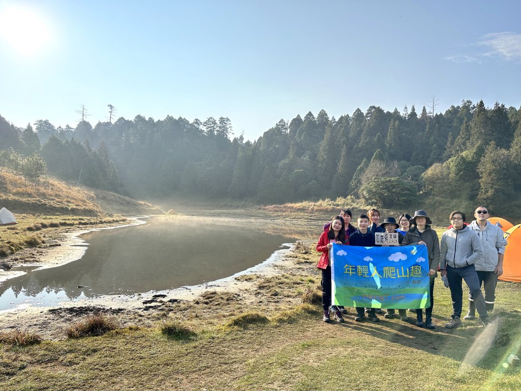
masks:
[[[474,299],[481,323],[486,326],[488,313],[474,266],[474,263],[483,257],[481,242],[478,235],[464,224],[465,213],[452,212],[450,221],[452,228],[443,233],[440,241],[440,271],[442,276],[447,276],[452,298],[452,319],[445,323],[445,327],[454,328],[461,325],[462,279],[465,280]]]

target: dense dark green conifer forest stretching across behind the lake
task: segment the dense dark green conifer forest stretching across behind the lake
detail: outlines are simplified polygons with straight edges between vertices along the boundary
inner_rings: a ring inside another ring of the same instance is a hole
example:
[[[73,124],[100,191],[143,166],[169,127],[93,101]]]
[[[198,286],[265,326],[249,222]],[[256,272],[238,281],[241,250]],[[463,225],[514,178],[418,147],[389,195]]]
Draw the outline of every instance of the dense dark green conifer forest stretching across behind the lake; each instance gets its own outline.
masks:
[[[138,198],[197,197],[275,204],[353,196],[384,207],[426,198],[492,209],[521,190],[521,107],[464,100],[444,113],[414,105],[281,119],[257,140],[227,117],[141,115],[75,128],[17,128],[0,116],[0,167]]]

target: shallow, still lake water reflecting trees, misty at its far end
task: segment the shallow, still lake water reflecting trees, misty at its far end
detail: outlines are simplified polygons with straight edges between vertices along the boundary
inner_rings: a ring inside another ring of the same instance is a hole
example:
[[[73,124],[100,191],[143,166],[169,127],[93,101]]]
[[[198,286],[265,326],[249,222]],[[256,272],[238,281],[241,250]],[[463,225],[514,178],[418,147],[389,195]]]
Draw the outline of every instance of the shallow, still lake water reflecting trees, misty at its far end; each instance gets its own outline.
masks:
[[[262,263],[284,243],[313,232],[320,233],[319,224],[188,216],[94,231],[81,236],[81,259],[42,270],[20,268],[27,274],[0,283],[0,311],[214,281]]]

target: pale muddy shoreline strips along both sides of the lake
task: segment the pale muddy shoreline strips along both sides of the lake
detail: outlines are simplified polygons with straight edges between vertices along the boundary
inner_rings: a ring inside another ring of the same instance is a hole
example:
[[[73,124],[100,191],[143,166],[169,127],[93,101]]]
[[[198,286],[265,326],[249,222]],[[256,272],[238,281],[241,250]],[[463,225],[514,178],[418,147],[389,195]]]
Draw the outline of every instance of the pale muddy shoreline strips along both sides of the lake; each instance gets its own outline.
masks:
[[[129,218],[129,223],[123,225],[94,226],[88,230],[69,229],[45,233],[45,243],[41,247],[21,250],[8,257],[8,262],[14,265],[14,268],[0,272],[0,281],[2,278],[5,280],[19,275],[16,265],[48,268],[80,259],[88,246],[83,239],[79,238],[80,235],[91,231],[144,223],[146,221],[139,218]],[[78,301],[64,301],[54,307],[29,306],[22,309],[5,310],[0,312],[0,330],[8,332],[20,329],[39,334],[45,339],[59,340],[65,338],[65,328],[68,325],[91,313],[115,315],[120,327],[153,326],[165,313],[175,312],[176,308],[179,310],[182,303],[191,302],[208,290],[231,292],[240,295],[244,301],[254,303],[255,296],[257,296],[256,284],[251,280],[240,278],[238,280],[236,277],[248,274],[269,277],[283,270],[294,269],[293,259],[287,256],[292,251],[293,245],[287,243],[284,246],[286,247],[276,250],[261,264],[232,276],[200,285],[134,295],[110,295]]]

